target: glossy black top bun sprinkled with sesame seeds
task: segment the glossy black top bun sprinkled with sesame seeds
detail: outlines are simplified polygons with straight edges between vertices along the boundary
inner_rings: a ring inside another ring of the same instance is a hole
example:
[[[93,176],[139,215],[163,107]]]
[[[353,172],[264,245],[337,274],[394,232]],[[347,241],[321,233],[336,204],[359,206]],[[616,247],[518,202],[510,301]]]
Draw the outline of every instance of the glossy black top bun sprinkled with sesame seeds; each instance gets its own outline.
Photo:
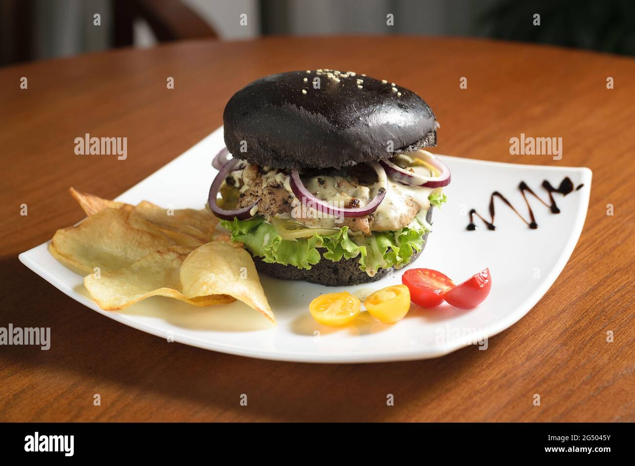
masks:
[[[342,167],[436,145],[434,113],[417,94],[334,70],[257,79],[232,96],[223,120],[234,157],[276,168]]]

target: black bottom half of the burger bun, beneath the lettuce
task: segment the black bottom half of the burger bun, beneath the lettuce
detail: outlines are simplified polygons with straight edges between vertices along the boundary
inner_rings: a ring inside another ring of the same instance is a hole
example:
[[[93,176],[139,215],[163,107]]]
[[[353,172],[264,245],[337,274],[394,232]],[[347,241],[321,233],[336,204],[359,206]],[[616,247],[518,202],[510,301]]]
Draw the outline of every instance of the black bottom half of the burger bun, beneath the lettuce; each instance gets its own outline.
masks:
[[[428,210],[425,218],[428,223],[432,221],[432,209]],[[415,261],[423,252],[427,238],[428,233],[425,233],[424,244],[421,250],[412,255],[408,264]],[[314,266],[311,266],[309,270],[298,269],[294,266],[285,266],[275,262],[270,264],[258,256],[253,256],[253,262],[258,273],[264,273],[265,275],[282,278],[284,280],[305,280],[306,282],[318,283],[318,285],[324,285],[326,287],[345,287],[348,285],[359,285],[359,283],[377,282],[377,280],[384,278],[384,276],[388,275],[388,273],[394,269],[392,267],[388,269],[378,269],[374,276],[368,276],[366,272],[359,268],[359,257],[342,259],[335,262],[324,259],[322,254],[326,251],[325,249],[320,248],[318,250],[321,260]]]

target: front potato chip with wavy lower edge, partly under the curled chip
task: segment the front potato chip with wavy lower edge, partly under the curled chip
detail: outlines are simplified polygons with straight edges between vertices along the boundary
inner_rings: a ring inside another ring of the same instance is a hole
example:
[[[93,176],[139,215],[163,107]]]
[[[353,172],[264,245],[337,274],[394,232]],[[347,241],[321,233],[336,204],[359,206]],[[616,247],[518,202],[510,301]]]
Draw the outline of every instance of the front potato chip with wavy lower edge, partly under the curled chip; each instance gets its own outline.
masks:
[[[167,296],[194,306],[211,306],[236,301],[231,296],[215,294],[187,299],[182,293],[180,269],[191,247],[172,246],[151,252],[129,266],[116,271],[92,274],[84,286],[105,311],[124,309],[150,296]]]

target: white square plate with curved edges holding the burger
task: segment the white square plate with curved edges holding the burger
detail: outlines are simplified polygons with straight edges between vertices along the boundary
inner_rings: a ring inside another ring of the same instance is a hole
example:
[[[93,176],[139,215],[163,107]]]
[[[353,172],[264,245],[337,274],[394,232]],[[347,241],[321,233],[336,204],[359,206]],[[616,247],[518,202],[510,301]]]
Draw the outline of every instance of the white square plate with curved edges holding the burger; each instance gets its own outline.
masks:
[[[202,207],[216,172],[211,167],[211,158],[223,145],[221,127],[117,200],[137,204],[147,199],[177,209]],[[192,346],[252,358],[313,363],[434,358],[475,339],[502,332],[530,311],[549,290],[573,252],[584,225],[591,190],[591,171],[587,168],[442,158],[452,172],[452,183],[445,190],[448,202],[441,210],[435,209],[434,231],[424,253],[410,267],[438,269],[455,282],[489,267],[493,283],[490,296],[471,311],[447,304],[430,310],[413,305],[408,316],[395,325],[378,323],[368,313],[362,313],[347,327],[322,327],[311,318],[309,302],[321,293],[340,288],[262,276],[262,285],[276,314],[275,327],[241,302],[200,308],[166,297],[152,297],[124,311],[111,312],[102,311],[88,297],[83,278],[53,259],[46,243],[20,254],[20,261],[100,314]],[[526,181],[546,198],[540,188],[542,181],[547,179],[558,186],[565,176],[575,186],[584,183],[584,187],[566,197],[555,195],[562,210],[558,215],[532,199],[538,230],[527,228],[502,202],[497,204],[496,231],[488,231],[482,224],[477,231],[465,230],[467,211],[475,207],[486,214],[492,190],[504,193],[526,216],[518,183]],[[401,273],[345,289],[352,294],[368,294],[369,290],[401,283]]]

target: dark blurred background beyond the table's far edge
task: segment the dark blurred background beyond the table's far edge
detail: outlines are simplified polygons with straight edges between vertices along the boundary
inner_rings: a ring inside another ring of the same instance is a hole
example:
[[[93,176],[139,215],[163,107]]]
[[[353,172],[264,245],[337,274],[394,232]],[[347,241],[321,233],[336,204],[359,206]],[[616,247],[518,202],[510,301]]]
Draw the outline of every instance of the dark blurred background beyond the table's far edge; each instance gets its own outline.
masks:
[[[635,0],[0,0],[0,66],[272,34],[492,37],[635,56]]]

